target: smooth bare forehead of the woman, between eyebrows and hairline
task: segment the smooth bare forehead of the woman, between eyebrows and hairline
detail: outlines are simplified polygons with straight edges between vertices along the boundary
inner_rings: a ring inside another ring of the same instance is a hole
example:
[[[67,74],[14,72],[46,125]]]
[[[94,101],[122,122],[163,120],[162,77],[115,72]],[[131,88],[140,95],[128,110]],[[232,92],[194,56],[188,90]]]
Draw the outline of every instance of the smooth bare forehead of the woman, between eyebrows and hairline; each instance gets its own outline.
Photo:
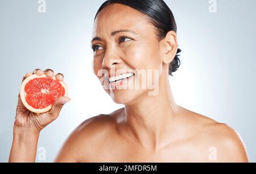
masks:
[[[100,36],[104,33],[110,34],[112,31],[121,29],[134,30],[138,34],[143,34],[146,31],[152,32],[154,27],[140,11],[114,3],[105,7],[97,15],[93,36]]]

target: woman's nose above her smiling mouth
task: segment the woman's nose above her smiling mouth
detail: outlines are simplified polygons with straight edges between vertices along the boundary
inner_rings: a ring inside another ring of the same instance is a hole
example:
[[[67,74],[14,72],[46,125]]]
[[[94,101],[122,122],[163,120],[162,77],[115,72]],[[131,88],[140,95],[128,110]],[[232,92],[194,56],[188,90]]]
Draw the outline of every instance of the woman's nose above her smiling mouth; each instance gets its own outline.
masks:
[[[120,64],[122,59],[119,57],[117,51],[107,50],[102,61],[102,67],[111,69],[114,65]]]

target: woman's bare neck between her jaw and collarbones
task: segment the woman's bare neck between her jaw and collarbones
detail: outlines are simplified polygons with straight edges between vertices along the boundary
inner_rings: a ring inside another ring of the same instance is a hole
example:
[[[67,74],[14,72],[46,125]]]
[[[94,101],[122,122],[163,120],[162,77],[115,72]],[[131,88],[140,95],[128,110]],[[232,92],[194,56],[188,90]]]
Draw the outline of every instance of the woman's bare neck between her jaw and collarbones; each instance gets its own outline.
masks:
[[[178,109],[168,77],[160,78],[158,95],[145,94],[125,106],[127,125],[144,148],[157,151],[170,143],[168,130],[172,128]]]

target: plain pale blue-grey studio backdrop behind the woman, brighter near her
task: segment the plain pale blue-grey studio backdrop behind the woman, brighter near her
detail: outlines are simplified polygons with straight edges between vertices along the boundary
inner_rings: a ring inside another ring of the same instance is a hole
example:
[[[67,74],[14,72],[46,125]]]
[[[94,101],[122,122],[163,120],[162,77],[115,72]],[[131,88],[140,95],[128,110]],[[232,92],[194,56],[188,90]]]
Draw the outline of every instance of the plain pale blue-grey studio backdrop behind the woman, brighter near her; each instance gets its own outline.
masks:
[[[0,161],[7,161],[22,76],[35,68],[65,75],[72,101],[42,131],[39,151],[53,161],[67,136],[85,119],[108,114],[116,105],[92,72],[93,18],[102,0],[0,0]],[[166,0],[173,11],[181,67],[171,77],[176,102],[240,132],[256,161],[256,1]]]

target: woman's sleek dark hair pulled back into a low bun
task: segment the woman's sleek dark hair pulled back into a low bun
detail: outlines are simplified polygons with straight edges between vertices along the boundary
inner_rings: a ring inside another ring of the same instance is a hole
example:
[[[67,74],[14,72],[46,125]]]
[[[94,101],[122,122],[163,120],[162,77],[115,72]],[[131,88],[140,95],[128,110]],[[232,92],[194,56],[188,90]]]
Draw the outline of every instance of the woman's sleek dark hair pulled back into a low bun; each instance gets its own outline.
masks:
[[[113,3],[129,6],[148,16],[150,18],[150,22],[156,27],[157,35],[160,40],[164,39],[169,31],[177,32],[174,15],[163,0],[108,0],[101,5],[100,9],[98,9],[94,20],[102,9],[106,6],[112,5]],[[176,72],[180,67],[180,52],[181,49],[177,49],[176,56],[170,63],[169,74],[171,76],[172,73]]]

